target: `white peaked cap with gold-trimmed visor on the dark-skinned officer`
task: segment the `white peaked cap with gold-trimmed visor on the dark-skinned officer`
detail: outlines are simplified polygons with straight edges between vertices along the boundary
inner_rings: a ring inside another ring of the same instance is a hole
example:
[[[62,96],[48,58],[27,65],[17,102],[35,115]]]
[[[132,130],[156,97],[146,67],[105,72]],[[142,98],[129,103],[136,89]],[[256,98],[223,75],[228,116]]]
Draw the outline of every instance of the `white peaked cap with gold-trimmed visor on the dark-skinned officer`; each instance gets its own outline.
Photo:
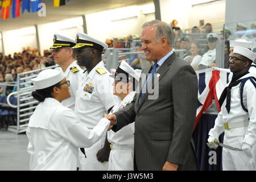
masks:
[[[82,32],[78,32],[76,34],[76,46],[72,47],[73,49],[81,48],[81,47],[93,47],[100,51],[108,48],[108,44],[101,42],[91,36],[84,34]]]

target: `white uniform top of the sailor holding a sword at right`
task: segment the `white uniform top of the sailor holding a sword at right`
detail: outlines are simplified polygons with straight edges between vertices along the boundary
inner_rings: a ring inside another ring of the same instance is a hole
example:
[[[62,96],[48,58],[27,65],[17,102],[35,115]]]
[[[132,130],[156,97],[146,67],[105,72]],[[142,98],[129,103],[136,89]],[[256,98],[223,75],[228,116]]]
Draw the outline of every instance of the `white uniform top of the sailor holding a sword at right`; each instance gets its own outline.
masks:
[[[246,78],[253,76],[250,73],[241,77]],[[231,100],[230,100],[230,112],[226,110],[226,102],[222,104],[221,111],[218,113],[218,117],[215,120],[213,129],[209,131],[209,135],[218,138],[218,136],[224,131],[223,123],[236,123],[242,121],[249,121],[249,126],[238,127],[230,130],[225,130],[225,138],[245,136],[243,142],[254,145],[256,142],[256,89],[250,80],[247,80],[243,88],[243,104],[248,113],[243,110],[241,106],[240,98],[240,84],[233,86],[231,89]],[[228,85],[227,85],[228,86]],[[226,141],[227,142],[227,141]],[[242,146],[242,143],[241,143]],[[240,147],[241,147],[240,146]]]

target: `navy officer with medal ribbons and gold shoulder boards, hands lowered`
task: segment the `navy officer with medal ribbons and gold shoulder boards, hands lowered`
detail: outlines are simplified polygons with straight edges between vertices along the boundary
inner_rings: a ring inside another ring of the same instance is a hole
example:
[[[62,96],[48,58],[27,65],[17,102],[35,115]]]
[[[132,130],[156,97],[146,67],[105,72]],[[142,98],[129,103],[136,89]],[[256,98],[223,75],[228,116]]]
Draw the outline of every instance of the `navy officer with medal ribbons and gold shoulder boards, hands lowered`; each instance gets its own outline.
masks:
[[[76,93],[75,113],[88,129],[96,126],[118,101],[118,97],[113,94],[114,78],[110,77],[101,60],[101,53],[106,48],[107,44],[89,35],[81,32],[76,35],[76,46],[73,49],[76,49],[77,63],[86,67],[86,71]],[[105,138],[106,134],[92,147],[80,148],[81,170],[108,169],[108,163],[101,163],[96,157],[98,150],[104,147]]]

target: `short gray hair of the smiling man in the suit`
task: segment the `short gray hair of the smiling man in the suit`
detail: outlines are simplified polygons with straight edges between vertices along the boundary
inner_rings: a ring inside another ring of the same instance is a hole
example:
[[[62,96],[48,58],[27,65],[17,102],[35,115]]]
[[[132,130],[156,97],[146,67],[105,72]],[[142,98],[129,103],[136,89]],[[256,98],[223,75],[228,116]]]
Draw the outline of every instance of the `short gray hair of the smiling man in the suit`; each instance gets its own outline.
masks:
[[[142,28],[151,26],[151,25],[155,25],[156,28],[156,42],[160,42],[161,39],[166,36],[168,43],[170,46],[174,45],[174,39],[175,39],[175,35],[174,35],[174,31],[172,31],[172,27],[166,23],[166,22],[162,22],[160,20],[152,20],[150,22],[146,22],[143,24]]]

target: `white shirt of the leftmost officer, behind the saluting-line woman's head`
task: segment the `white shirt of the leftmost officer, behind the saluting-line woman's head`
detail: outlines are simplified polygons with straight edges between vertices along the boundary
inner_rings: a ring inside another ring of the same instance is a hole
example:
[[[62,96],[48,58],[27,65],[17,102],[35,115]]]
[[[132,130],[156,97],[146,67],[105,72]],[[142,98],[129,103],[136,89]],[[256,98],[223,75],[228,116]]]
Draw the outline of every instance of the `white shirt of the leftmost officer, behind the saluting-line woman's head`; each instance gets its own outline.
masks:
[[[79,72],[73,73],[70,69],[71,67],[76,67],[77,69],[79,69]],[[81,80],[81,77],[82,77],[82,72],[84,71],[82,71],[79,65],[77,65],[76,61],[73,61],[73,63],[71,63],[68,66],[68,68],[64,73],[65,77],[70,81],[69,92],[71,94],[71,97],[62,101],[61,104],[63,104],[65,107],[68,107],[72,110],[75,110],[75,103],[76,103],[75,94],[79,86],[79,81]]]

